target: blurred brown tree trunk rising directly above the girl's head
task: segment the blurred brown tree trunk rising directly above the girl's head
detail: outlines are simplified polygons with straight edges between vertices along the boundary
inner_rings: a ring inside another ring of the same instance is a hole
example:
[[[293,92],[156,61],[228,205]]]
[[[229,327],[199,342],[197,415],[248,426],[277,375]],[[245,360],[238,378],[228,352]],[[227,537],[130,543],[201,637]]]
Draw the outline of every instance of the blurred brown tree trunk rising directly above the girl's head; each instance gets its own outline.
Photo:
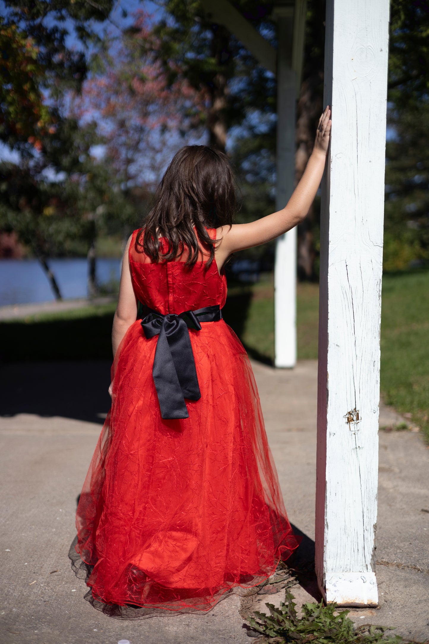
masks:
[[[217,66],[224,68],[225,71],[218,71],[208,86],[211,104],[208,110],[207,127],[210,146],[224,152],[227,132],[225,110],[228,104],[227,67],[231,61],[230,34],[223,26],[217,24],[212,26],[212,31],[212,56]]]

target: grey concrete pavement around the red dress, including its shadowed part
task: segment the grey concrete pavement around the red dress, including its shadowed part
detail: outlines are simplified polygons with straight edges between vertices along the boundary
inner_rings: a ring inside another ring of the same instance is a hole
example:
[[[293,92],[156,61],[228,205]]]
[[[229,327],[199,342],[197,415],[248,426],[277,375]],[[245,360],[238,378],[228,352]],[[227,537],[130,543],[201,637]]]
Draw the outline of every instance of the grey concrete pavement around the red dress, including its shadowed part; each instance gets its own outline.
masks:
[[[253,364],[289,518],[304,535],[298,564],[310,573],[292,592],[317,596],[314,557],[316,362],[293,371]],[[0,369],[1,644],[250,643],[243,615],[277,594],[237,595],[206,615],[113,620],[84,601],[69,567],[74,515],[109,406],[109,363],[31,363]],[[381,426],[403,419],[382,408]],[[397,626],[429,639],[429,450],[418,433],[380,431],[377,578],[379,609],[358,623]],[[363,621],[364,620],[364,621]]]

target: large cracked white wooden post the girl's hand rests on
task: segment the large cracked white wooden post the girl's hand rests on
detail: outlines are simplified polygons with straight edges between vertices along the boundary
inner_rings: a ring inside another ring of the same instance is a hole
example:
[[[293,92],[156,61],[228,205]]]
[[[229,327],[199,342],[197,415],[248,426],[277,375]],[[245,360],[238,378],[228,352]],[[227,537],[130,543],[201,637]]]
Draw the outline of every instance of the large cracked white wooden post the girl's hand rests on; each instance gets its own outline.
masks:
[[[327,0],[316,572],[328,602],[376,605],[379,330],[389,0]]]

